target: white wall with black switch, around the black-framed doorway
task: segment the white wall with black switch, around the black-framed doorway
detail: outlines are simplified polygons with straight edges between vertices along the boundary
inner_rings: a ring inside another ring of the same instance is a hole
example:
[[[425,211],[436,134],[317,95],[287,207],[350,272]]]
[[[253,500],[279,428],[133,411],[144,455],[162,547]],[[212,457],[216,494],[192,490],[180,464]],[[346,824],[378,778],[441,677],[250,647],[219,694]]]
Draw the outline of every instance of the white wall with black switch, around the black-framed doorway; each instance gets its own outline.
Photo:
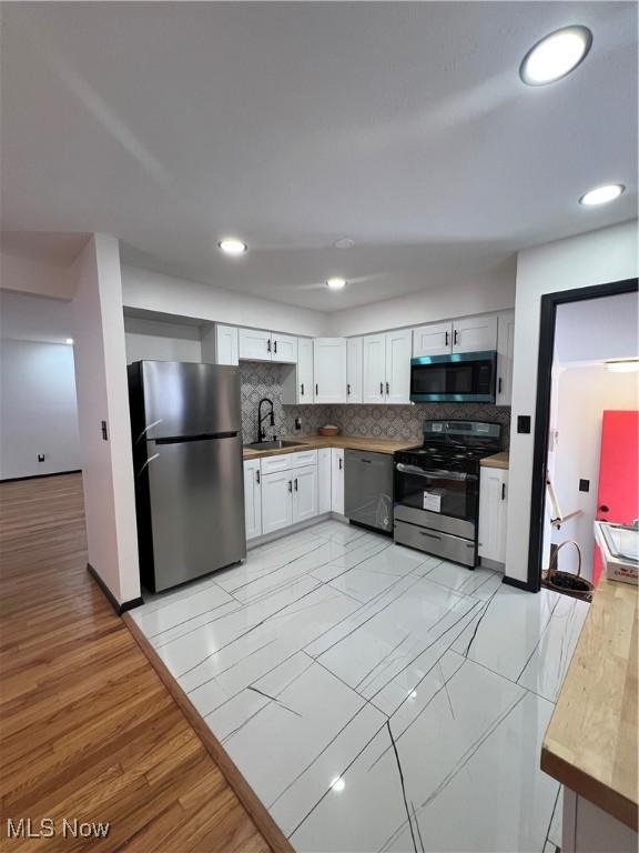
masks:
[[[506,574],[515,580],[525,582],[528,576],[541,295],[633,278],[639,265],[637,250],[633,221],[527,249],[518,255],[506,550]],[[530,415],[529,434],[517,433],[519,414]]]

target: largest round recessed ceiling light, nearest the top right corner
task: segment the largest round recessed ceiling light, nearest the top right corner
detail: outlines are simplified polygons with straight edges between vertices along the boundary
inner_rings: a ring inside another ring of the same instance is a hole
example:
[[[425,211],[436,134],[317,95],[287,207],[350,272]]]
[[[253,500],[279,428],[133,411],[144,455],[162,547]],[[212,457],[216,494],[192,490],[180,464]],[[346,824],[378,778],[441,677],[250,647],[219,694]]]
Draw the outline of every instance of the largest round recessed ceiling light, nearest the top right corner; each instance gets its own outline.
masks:
[[[519,77],[528,86],[546,86],[560,80],[585,59],[592,44],[587,27],[564,27],[535,44],[524,57]]]

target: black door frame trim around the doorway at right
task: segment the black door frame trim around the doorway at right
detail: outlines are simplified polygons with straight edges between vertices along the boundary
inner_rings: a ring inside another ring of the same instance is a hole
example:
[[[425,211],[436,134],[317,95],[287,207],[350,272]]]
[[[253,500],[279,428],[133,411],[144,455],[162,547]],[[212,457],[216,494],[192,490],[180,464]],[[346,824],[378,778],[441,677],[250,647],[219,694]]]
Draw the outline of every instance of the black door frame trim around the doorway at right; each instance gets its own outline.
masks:
[[[541,589],[541,553],[544,549],[544,513],[546,509],[546,462],[550,429],[550,392],[555,352],[557,305],[584,302],[587,299],[616,297],[639,290],[639,279],[623,279],[590,288],[561,290],[541,297],[539,319],[539,357],[537,361],[537,404],[535,410],[535,444],[532,451],[532,486],[530,492],[530,538],[528,540],[528,582],[530,592]]]

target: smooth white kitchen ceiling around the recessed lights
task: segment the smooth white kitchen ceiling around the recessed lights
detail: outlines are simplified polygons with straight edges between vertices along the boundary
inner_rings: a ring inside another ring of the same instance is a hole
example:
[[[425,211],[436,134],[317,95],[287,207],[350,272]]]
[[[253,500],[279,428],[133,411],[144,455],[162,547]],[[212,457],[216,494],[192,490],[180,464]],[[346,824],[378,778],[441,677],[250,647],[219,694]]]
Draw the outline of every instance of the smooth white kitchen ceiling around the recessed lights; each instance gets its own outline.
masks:
[[[335,311],[467,281],[637,209],[637,7],[4,3],[2,228]],[[594,32],[525,87],[551,30]],[[621,181],[608,208],[584,191]],[[221,257],[239,234],[251,251]],[[335,249],[343,237],[353,249]],[[349,287],[322,282],[344,274]]]

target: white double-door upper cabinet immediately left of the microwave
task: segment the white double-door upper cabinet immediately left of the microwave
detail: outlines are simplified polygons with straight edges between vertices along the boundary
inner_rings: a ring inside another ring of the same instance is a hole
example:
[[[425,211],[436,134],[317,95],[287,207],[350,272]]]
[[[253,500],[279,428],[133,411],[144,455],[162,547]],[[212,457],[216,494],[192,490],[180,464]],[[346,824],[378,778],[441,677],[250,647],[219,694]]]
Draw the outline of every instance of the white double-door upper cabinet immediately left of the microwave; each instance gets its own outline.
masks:
[[[410,349],[410,329],[364,338],[363,402],[409,402]]]

